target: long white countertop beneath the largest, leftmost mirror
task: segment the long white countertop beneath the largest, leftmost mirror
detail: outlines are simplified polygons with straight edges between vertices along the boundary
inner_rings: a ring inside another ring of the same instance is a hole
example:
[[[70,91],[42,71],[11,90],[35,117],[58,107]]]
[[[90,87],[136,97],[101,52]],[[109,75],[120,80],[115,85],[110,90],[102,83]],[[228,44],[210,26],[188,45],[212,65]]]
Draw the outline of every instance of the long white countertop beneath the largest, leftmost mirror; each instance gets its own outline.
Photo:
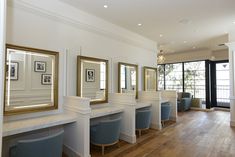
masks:
[[[3,123],[3,137],[76,122],[75,114],[55,114]]]

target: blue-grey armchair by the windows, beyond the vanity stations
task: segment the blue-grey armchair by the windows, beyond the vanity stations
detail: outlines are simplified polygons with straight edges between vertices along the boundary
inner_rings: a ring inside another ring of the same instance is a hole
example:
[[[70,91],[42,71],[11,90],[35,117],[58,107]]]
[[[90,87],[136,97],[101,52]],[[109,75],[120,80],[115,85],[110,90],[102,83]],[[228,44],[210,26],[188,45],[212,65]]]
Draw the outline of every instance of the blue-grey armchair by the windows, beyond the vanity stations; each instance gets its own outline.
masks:
[[[187,111],[190,109],[192,103],[192,95],[187,92],[178,93],[177,106],[178,111]]]

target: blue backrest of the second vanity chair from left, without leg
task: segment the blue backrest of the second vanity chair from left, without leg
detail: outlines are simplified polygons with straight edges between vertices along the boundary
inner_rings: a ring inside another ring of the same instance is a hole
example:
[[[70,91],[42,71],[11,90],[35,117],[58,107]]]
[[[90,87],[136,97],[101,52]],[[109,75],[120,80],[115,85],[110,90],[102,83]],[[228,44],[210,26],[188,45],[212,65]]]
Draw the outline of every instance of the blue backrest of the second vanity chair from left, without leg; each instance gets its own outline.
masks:
[[[97,127],[97,142],[100,144],[111,144],[116,142],[120,136],[121,117],[116,119],[102,120]]]

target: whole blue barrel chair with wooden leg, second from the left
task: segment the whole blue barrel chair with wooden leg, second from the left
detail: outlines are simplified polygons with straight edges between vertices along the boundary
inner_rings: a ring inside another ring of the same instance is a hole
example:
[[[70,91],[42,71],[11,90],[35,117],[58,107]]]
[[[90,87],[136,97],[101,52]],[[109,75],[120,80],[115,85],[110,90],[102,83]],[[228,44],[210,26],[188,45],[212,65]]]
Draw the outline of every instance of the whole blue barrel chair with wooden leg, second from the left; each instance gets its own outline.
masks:
[[[103,120],[98,124],[91,126],[90,139],[91,144],[102,147],[104,155],[105,146],[111,146],[119,142],[121,129],[121,118]]]

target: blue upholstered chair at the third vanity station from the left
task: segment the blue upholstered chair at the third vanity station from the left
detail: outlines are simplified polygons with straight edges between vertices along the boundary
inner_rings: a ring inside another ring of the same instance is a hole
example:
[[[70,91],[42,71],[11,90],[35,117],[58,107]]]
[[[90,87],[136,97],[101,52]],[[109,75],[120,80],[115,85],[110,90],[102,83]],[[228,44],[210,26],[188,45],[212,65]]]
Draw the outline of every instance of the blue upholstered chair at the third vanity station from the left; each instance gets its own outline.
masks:
[[[139,109],[136,110],[136,130],[139,132],[139,136],[141,136],[142,130],[147,130],[150,127],[151,122],[151,111],[150,109]]]

